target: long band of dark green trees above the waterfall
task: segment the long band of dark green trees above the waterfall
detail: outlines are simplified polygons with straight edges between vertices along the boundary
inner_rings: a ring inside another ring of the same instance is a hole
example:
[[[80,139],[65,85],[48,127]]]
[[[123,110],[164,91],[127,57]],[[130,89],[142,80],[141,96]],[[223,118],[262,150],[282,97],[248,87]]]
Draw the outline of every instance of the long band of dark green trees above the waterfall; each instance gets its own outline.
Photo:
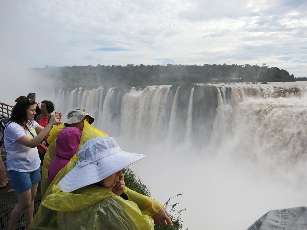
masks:
[[[123,84],[141,86],[146,84],[165,84],[169,82],[288,82],[295,81],[294,75],[278,67],[258,65],[112,65],[104,66],[65,66],[33,68],[34,71],[49,78],[56,78],[66,86],[90,86]]]

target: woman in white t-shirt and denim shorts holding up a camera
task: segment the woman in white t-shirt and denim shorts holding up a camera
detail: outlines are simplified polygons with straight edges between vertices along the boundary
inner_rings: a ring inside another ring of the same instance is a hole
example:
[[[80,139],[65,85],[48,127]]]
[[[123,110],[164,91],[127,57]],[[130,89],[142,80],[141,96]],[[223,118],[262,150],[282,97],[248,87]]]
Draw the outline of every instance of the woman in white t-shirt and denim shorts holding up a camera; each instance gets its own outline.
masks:
[[[59,122],[56,116],[50,119],[45,128],[38,125],[34,121],[35,109],[34,99],[23,98],[18,101],[4,130],[7,172],[18,198],[10,215],[8,230],[15,229],[23,213],[26,229],[33,220],[34,197],[41,180],[41,160],[36,146],[45,136],[49,136],[50,129]]]

